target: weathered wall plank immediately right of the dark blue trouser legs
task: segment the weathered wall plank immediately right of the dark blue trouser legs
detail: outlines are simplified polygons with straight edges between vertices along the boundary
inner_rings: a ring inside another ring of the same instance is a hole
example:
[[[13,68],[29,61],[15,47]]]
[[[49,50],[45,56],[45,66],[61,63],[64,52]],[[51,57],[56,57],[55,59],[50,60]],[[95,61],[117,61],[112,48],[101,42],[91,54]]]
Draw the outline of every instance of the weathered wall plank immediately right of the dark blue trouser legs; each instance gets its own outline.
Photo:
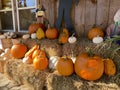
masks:
[[[80,0],[78,6],[75,7],[75,29],[78,37],[85,34],[85,0]]]

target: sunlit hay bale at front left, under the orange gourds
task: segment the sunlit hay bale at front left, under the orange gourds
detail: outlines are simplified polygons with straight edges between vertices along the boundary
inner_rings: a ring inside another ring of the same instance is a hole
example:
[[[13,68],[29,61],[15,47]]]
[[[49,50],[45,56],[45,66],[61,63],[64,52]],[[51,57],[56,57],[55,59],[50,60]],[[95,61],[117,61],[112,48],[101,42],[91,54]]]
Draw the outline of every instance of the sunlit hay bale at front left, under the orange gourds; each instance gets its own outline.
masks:
[[[35,90],[43,90],[48,70],[35,70],[32,65],[23,64],[22,60],[9,60],[5,66],[5,75],[18,84],[28,84]]]

